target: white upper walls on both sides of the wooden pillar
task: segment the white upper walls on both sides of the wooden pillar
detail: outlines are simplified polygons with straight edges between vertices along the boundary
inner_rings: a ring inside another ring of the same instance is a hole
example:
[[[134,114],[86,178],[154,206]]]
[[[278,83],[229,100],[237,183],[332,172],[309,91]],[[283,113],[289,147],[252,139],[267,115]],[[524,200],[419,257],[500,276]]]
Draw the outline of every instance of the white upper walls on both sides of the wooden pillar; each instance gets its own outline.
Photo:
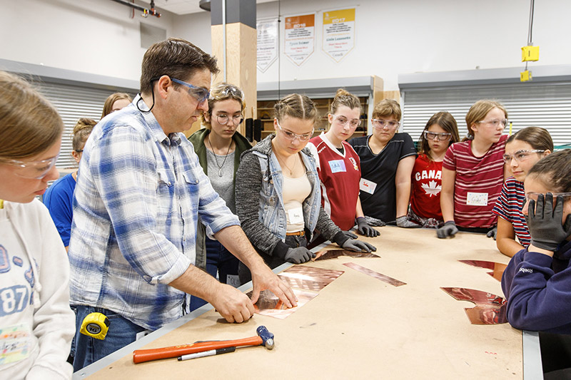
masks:
[[[145,51],[141,22],[211,52],[208,12],[162,12],[160,19],[143,19],[135,11],[130,19],[130,9],[110,0],[1,3],[0,58],[12,61],[138,81]],[[523,67],[528,0],[284,0],[280,6],[282,16],[317,12],[315,52],[302,66],[282,56],[266,73],[258,71],[258,83],[377,75],[390,91],[398,89],[399,73]],[[335,63],[320,50],[322,12],[351,6],[356,8],[356,46]],[[571,63],[569,14],[569,0],[535,2],[533,41],[540,46],[540,61],[530,68]],[[258,4],[258,18],[277,15],[277,1]]]

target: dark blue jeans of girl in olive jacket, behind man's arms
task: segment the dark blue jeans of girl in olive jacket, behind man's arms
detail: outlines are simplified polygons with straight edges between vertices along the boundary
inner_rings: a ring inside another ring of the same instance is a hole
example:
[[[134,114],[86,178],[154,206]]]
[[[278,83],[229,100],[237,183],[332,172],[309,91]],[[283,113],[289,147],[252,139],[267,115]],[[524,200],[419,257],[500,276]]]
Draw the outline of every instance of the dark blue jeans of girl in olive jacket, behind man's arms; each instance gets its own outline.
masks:
[[[238,276],[238,258],[226,250],[218,240],[211,240],[206,237],[206,272],[212,277],[218,278],[223,284],[228,284],[228,274]],[[207,302],[204,299],[192,296],[190,311],[198,309]]]

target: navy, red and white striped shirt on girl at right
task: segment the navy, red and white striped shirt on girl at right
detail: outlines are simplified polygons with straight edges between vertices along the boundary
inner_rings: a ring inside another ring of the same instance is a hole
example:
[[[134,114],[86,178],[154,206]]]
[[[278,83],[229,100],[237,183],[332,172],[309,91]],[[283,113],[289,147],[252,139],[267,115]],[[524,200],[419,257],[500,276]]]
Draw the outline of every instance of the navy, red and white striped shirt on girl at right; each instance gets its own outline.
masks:
[[[513,177],[507,178],[502,188],[502,194],[497,198],[492,212],[510,222],[515,231],[517,240],[523,247],[531,243],[530,230],[522,214],[523,202],[525,201],[525,190],[523,183]]]

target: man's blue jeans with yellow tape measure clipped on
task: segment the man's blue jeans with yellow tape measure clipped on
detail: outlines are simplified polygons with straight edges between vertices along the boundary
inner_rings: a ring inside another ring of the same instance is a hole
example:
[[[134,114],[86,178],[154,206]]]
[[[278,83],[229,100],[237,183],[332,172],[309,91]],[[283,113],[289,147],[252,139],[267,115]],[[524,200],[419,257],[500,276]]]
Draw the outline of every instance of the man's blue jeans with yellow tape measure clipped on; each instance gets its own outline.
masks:
[[[136,335],[146,330],[108,309],[84,305],[74,305],[74,307],[77,309],[76,335],[74,338],[74,372],[79,371],[84,366],[89,366],[89,364],[98,361],[108,354],[112,354],[118,349],[122,349],[127,344],[135,342]],[[93,312],[101,313],[109,319],[109,329],[103,340],[88,337],[79,332],[84,318]]]

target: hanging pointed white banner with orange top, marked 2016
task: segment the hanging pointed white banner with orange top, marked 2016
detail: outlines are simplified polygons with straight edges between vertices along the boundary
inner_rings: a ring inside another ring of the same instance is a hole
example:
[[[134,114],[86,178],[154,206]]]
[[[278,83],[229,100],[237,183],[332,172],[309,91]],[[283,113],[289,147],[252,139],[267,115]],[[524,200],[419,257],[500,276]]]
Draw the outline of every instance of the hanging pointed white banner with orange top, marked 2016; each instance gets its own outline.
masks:
[[[285,17],[285,56],[300,66],[313,53],[315,45],[315,14]]]

